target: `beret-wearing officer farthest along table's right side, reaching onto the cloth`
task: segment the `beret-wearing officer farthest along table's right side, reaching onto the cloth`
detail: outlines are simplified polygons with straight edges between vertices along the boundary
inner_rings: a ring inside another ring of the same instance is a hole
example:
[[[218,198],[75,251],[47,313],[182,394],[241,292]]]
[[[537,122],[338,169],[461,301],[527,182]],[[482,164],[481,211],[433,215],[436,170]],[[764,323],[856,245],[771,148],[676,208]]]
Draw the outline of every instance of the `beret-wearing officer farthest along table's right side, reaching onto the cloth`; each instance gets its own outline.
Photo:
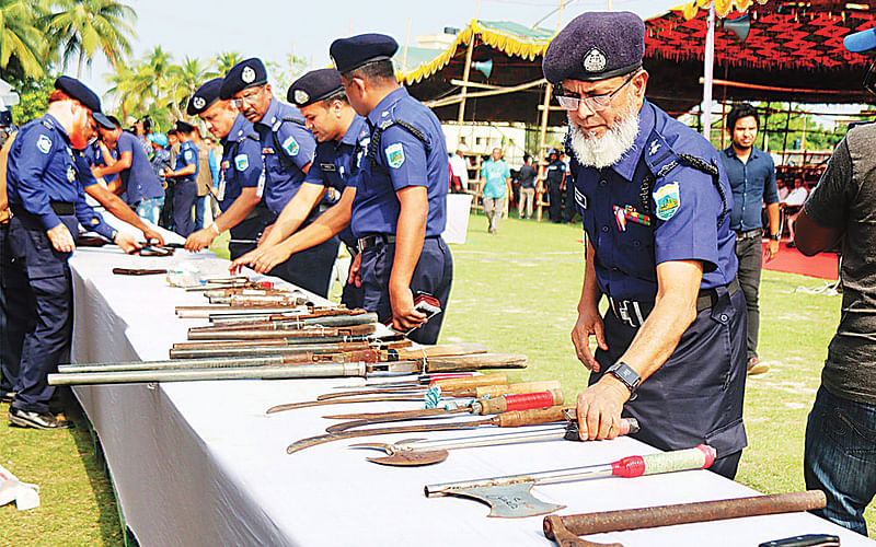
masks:
[[[231,101],[219,98],[222,81],[216,78],[198,88],[186,107],[187,114],[199,116],[222,144],[216,195],[222,213],[209,226],[189,235],[185,248],[195,252],[209,247],[219,234],[230,230],[228,249],[233,260],[255,248],[270,214],[257,195],[262,179],[258,135]]]

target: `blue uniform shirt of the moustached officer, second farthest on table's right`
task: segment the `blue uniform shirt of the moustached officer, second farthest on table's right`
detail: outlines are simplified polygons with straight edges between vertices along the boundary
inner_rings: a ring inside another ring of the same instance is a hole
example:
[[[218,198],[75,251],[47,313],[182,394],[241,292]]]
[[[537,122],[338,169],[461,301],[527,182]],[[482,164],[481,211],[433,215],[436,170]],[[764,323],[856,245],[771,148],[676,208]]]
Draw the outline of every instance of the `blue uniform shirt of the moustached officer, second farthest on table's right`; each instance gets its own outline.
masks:
[[[267,112],[254,127],[262,143],[265,170],[263,199],[268,209],[279,214],[304,181],[302,170],[313,160],[316,140],[304,128],[298,109],[276,98],[270,100]]]

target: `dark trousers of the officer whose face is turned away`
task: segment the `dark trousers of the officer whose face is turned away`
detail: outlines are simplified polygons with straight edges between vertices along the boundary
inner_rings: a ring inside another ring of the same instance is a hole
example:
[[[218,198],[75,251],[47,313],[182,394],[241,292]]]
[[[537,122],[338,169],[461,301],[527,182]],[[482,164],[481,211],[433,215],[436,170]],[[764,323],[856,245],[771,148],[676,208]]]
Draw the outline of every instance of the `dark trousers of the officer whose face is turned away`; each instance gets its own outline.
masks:
[[[364,307],[377,313],[380,322],[392,317],[390,304],[390,274],[395,259],[395,245],[377,245],[362,252]],[[441,333],[441,324],[447,315],[450,286],[453,281],[453,257],[441,237],[428,237],[423,242],[419,260],[411,278],[411,292],[426,292],[441,303],[441,313],[424,326],[417,328],[408,338],[419,344],[435,344]]]

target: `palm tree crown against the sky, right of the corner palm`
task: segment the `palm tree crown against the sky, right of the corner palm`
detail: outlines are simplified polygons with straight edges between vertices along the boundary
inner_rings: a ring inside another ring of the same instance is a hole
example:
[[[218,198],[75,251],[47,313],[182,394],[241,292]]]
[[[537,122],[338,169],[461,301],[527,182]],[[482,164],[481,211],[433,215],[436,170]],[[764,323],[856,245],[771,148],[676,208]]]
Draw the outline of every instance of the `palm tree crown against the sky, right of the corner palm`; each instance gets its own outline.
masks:
[[[54,0],[50,4],[60,11],[45,18],[49,43],[61,49],[65,66],[78,56],[77,78],[97,49],[114,68],[130,54],[128,38],[135,32],[128,21],[137,19],[137,13],[128,4],[113,0]]]

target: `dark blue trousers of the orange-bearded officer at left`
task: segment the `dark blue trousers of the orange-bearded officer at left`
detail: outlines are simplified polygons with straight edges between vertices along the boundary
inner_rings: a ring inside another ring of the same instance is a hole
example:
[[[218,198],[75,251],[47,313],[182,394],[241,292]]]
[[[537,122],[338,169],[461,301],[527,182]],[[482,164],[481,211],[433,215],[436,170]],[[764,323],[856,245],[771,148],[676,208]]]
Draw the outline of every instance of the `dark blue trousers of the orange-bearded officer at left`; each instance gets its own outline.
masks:
[[[77,232],[74,217],[60,219],[70,233]],[[39,221],[27,214],[15,214],[10,221],[9,251],[7,309],[11,323],[23,331],[12,406],[48,412],[55,388],[46,379],[67,356],[73,330],[70,254],[55,251]],[[9,336],[14,339],[18,330]]]

